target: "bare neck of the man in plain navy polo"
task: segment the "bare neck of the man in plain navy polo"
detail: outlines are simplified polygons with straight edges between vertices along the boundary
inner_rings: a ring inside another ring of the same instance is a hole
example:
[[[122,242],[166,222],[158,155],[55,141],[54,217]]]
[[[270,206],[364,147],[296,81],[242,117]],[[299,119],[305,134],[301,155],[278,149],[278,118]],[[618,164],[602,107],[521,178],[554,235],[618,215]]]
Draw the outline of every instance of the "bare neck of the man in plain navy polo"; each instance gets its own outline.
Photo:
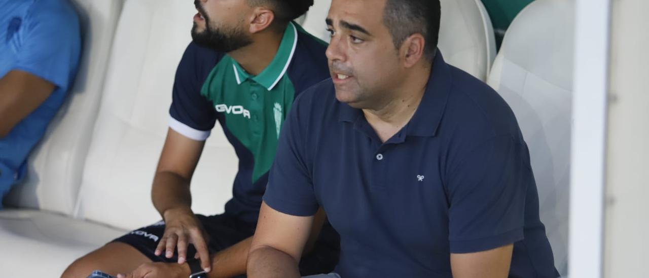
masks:
[[[392,97],[375,109],[363,109],[365,119],[382,142],[398,133],[414,116],[426,92],[430,68],[411,69]]]

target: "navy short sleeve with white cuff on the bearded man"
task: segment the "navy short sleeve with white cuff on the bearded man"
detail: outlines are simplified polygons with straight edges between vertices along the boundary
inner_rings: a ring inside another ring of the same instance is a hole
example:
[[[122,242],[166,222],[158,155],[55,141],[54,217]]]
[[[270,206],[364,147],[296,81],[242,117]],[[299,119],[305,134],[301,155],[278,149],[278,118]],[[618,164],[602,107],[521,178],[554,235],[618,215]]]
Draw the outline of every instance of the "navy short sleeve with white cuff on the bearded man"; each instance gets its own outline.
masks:
[[[215,66],[217,58],[210,57],[210,53],[203,55],[202,52],[204,49],[199,49],[193,43],[187,47],[178,64],[173,100],[169,108],[169,127],[183,136],[199,141],[210,136],[217,120],[212,102],[201,95],[202,83]]]

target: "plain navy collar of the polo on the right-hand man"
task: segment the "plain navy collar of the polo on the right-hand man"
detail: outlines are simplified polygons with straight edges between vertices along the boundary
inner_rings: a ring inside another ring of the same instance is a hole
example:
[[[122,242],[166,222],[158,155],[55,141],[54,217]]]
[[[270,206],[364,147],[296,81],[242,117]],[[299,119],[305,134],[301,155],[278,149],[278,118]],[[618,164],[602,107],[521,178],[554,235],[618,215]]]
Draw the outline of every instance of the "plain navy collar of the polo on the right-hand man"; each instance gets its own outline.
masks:
[[[417,111],[404,128],[406,134],[410,136],[435,136],[437,134],[439,123],[446,109],[451,83],[450,68],[437,49],[430,77],[428,77],[428,84],[426,84],[426,91]],[[340,121],[357,123],[358,120],[361,120],[360,117],[364,117],[360,109],[350,107],[347,103],[341,103]]]

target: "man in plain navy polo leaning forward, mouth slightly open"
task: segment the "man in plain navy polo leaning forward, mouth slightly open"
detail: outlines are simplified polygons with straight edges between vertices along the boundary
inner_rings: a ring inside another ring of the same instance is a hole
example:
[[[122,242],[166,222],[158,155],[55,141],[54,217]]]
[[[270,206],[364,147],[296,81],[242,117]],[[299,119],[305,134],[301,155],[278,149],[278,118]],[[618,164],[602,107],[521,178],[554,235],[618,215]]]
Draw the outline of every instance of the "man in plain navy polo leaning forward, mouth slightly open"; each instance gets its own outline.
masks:
[[[289,113],[248,258],[297,277],[318,207],[347,277],[557,277],[511,109],[437,51],[434,0],[334,0],[332,79]]]

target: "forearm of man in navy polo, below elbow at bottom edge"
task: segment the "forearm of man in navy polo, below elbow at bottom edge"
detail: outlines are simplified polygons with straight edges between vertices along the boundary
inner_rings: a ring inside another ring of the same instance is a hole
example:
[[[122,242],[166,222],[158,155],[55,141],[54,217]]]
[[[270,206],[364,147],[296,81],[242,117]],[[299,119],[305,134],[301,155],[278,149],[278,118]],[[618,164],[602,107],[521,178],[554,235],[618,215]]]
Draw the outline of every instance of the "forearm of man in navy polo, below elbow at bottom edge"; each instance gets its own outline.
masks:
[[[248,256],[248,277],[256,278],[299,278],[298,262],[273,247],[258,247]]]

